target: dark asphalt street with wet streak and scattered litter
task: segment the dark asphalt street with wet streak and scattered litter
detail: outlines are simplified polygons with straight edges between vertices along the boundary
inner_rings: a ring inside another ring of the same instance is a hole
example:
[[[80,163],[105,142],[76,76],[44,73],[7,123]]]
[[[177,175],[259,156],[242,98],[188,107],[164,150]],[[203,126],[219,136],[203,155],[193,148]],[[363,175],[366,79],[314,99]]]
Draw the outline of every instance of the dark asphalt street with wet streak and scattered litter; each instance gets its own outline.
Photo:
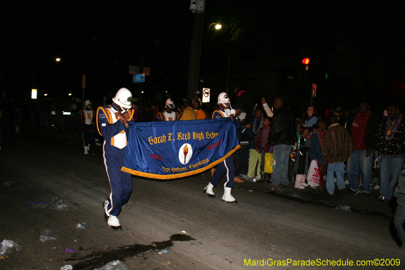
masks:
[[[405,268],[404,247],[392,225],[395,205],[376,200],[377,191],[368,198],[332,197],[325,190],[291,184],[274,190],[247,182],[232,189],[238,204],[227,204],[221,186],[214,188],[215,199],[203,194],[209,171],[170,181],[133,176],[130,201],[119,215],[124,230],[113,232],[103,220],[102,202],[110,190],[101,146],[91,146],[85,156],[81,143],[73,131],[5,134],[0,241],[23,248],[4,254],[0,269],[95,269],[117,259],[129,269]],[[61,201],[70,208],[57,210]],[[82,222],[90,228],[76,229]],[[39,241],[46,229],[56,240]],[[163,249],[169,252],[159,254]],[[395,265],[293,265],[375,259]],[[262,260],[291,262],[260,266]]]

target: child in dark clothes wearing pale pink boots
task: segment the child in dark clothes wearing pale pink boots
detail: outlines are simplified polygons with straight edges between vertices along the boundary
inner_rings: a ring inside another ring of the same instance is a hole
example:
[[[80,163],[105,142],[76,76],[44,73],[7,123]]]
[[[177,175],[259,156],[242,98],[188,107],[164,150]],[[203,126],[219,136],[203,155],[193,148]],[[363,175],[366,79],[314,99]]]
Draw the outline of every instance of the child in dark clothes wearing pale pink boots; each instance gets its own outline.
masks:
[[[305,183],[305,177],[308,173],[309,167],[308,151],[310,146],[310,133],[311,129],[309,127],[304,127],[302,129],[302,135],[300,137],[299,146],[295,155],[295,165],[293,171],[297,173],[297,176],[294,187],[299,189],[303,189],[308,186],[308,184]]]

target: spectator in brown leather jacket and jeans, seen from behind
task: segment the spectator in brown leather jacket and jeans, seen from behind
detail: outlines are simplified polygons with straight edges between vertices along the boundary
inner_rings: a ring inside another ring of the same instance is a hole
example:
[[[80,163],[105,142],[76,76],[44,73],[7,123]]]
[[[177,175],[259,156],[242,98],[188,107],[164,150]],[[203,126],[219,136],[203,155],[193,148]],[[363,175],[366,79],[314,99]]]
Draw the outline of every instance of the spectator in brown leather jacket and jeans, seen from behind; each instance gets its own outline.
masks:
[[[344,194],[346,192],[343,163],[353,153],[353,143],[350,138],[349,132],[338,123],[336,115],[332,115],[329,120],[331,126],[323,135],[322,142],[322,159],[328,165],[326,189],[330,195],[334,195],[335,182],[333,180],[333,173],[336,172],[339,191],[337,194]]]

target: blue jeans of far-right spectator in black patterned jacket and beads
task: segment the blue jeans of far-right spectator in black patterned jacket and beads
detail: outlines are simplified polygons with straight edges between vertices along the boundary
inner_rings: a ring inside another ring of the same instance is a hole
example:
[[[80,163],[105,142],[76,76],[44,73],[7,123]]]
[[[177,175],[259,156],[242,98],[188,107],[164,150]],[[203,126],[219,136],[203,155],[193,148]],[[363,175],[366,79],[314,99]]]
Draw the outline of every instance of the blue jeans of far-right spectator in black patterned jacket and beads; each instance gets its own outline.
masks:
[[[379,157],[380,165],[380,195],[391,199],[394,195],[395,186],[398,184],[399,174],[402,171],[405,157],[386,159]]]

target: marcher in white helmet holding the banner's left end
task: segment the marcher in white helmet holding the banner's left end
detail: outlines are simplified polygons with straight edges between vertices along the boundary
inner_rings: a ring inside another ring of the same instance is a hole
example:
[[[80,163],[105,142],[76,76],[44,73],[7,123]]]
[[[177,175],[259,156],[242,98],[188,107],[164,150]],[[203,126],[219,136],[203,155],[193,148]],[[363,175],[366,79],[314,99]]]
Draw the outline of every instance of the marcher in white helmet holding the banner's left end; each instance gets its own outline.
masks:
[[[127,149],[129,122],[134,122],[134,110],[130,109],[131,100],[132,93],[121,88],[112,98],[111,105],[97,109],[97,128],[104,137],[103,160],[111,187],[111,192],[103,204],[104,220],[115,231],[123,229],[117,217],[132,191],[131,174],[121,171]]]

